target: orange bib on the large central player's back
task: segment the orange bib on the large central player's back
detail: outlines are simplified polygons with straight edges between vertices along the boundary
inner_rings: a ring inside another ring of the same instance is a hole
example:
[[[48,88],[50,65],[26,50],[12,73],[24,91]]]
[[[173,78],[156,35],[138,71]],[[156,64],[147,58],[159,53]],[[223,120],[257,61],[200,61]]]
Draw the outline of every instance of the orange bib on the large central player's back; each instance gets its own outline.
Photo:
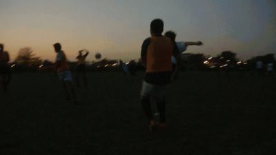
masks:
[[[146,50],[146,72],[172,71],[173,48],[168,37],[151,37]]]

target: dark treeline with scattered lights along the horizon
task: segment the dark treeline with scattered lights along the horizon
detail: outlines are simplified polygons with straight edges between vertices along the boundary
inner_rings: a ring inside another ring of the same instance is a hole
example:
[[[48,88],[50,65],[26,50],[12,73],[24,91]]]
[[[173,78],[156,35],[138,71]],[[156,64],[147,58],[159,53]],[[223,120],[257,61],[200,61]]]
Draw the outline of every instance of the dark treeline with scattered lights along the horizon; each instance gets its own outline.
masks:
[[[239,60],[237,54],[232,51],[224,51],[217,56],[206,56],[205,54],[181,54],[183,71],[252,71],[257,68],[257,62],[262,62],[262,70],[266,71],[268,64],[275,64],[274,54],[253,56],[246,61]],[[75,70],[77,62],[69,62],[72,71]],[[125,62],[130,70],[144,70],[140,61],[131,60]],[[16,59],[10,62],[13,72],[52,72],[55,62],[43,60],[35,56],[31,48],[21,48]],[[99,61],[88,61],[86,69],[89,72],[121,71],[119,60],[101,59]],[[275,68],[273,68],[275,70]]]

